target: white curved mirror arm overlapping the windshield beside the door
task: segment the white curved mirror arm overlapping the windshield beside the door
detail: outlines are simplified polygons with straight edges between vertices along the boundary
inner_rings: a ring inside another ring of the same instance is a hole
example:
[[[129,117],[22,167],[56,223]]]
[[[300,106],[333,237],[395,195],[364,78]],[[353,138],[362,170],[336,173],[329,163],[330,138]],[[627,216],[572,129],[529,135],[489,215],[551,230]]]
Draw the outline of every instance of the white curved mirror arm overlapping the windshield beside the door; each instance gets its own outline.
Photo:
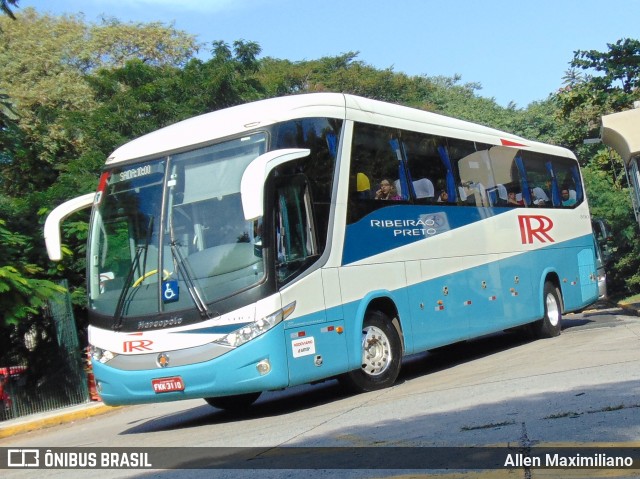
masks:
[[[269,173],[279,165],[304,158],[310,154],[311,150],[306,148],[287,148],[269,151],[249,163],[240,181],[242,209],[247,221],[259,218],[264,214],[264,183]]]

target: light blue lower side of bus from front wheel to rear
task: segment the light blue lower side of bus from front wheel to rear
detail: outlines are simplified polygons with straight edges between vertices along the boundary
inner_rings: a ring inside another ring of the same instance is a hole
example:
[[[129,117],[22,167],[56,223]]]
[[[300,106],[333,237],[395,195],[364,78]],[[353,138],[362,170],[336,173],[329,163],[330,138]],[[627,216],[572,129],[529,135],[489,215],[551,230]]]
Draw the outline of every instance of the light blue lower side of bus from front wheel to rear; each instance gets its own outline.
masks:
[[[438,260],[432,262],[436,267]],[[388,297],[398,310],[406,352],[413,353],[541,318],[548,274],[558,277],[566,311],[588,306],[598,298],[593,272],[593,239],[587,235],[390,290]],[[364,297],[345,303],[344,317],[362,319],[368,302]],[[359,340],[352,336],[351,350],[359,351]]]

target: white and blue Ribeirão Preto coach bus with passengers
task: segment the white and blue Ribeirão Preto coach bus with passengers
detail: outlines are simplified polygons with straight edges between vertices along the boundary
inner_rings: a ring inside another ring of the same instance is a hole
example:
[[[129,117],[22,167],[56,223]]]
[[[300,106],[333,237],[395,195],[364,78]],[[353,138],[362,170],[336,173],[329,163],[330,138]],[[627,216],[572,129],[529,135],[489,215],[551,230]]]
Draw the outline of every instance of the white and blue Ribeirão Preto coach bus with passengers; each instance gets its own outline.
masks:
[[[61,221],[89,206],[88,338],[108,405],[242,408],[334,378],[373,391],[407,355],[513,328],[556,336],[598,297],[570,151],[347,94],[121,146],[95,193],[47,217],[52,260]]]

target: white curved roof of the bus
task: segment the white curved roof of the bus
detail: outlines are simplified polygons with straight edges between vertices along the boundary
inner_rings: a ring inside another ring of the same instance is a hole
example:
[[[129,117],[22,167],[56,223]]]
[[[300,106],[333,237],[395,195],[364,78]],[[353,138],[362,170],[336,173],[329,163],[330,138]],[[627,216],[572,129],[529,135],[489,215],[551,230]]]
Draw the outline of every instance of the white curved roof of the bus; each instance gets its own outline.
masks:
[[[573,157],[564,148],[416,108],[342,93],[307,93],[256,101],[180,121],[117,148],[107,159],[107,165],[193,149],[261,126],[311,117],[346,118]]]

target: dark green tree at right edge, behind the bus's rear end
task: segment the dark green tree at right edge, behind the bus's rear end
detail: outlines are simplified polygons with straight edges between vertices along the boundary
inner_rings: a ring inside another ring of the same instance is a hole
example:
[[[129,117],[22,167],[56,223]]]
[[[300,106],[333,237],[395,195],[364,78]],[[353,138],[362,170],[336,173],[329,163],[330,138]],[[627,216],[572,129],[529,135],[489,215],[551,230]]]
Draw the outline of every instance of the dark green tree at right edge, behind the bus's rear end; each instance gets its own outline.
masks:
[[[585,166],[592,213],[604,217],[615,232],[616,255],[611,267],[614,295],[640,291],[640,246],[626,179],[616,155],[602,145],[584,145],[600,136],[602,115],[626,110],[640,99],[640,41],[621,39],[608,50],[578,50],[556,95],[563,142]]]

